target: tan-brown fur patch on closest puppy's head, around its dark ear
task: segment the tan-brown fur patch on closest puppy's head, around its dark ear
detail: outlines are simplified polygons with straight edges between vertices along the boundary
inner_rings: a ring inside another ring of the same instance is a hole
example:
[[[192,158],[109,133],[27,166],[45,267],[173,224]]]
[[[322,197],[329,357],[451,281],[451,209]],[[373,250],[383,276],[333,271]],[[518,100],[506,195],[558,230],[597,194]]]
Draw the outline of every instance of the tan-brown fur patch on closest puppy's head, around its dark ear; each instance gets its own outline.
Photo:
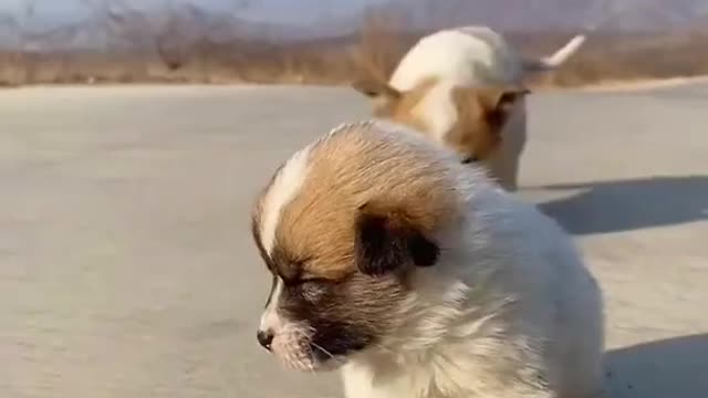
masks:
[[[445,188],[454,186],[444,181],[445,167],[367,128],[316,144],[300,193],[282,209],[277,244],[302,262],[305,277],[343,280],[356,272],[354,226],[364,205],[405,217],[425,235],[455,219],[457,196]]]

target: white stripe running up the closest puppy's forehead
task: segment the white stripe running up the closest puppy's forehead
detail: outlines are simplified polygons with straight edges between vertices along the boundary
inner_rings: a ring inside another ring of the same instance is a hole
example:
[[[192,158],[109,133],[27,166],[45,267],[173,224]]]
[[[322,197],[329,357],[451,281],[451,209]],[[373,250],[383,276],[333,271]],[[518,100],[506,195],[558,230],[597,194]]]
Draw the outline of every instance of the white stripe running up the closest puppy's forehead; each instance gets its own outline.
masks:
[[[310,146],[293,155],[275,176],[266,199],[263,201],[263,222],[261,224],[261,239],[263,249],[270,254],[275,243],[275,230],[280,222],[282,209],[300,192],[308,177],[308,159]]]

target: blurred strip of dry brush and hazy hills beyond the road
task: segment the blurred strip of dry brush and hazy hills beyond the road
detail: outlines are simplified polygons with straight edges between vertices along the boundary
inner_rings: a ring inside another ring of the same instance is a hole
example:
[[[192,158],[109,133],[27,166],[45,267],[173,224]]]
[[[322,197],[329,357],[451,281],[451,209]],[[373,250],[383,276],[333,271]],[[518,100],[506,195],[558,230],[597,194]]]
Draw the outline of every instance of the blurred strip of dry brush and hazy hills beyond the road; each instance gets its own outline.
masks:
[[[529,54],[591,32],[543,84],[693,76],[707,22],[706,0],[0,0],[0,85],[342,84],[471,23]]]

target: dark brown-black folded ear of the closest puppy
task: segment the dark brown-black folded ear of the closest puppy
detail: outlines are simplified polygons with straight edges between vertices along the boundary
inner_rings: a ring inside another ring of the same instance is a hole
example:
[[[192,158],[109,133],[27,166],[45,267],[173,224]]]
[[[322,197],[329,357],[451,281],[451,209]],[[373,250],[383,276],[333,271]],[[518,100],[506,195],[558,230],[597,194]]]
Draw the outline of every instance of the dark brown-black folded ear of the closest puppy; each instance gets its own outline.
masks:
[[[381,211],[371,203],[356,218],[355,256],[360,271],[383,275],[406,265],[434,265],[439,248],[402,212]]]

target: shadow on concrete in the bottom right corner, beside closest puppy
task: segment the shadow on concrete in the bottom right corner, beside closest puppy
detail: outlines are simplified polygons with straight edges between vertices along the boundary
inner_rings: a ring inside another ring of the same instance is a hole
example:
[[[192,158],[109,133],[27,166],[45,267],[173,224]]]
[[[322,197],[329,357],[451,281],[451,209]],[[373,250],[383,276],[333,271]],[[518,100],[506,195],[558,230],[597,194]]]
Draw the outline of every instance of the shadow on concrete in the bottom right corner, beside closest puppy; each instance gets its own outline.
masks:
[[[610,398],[708,397],[708,334],[611,350]]]

